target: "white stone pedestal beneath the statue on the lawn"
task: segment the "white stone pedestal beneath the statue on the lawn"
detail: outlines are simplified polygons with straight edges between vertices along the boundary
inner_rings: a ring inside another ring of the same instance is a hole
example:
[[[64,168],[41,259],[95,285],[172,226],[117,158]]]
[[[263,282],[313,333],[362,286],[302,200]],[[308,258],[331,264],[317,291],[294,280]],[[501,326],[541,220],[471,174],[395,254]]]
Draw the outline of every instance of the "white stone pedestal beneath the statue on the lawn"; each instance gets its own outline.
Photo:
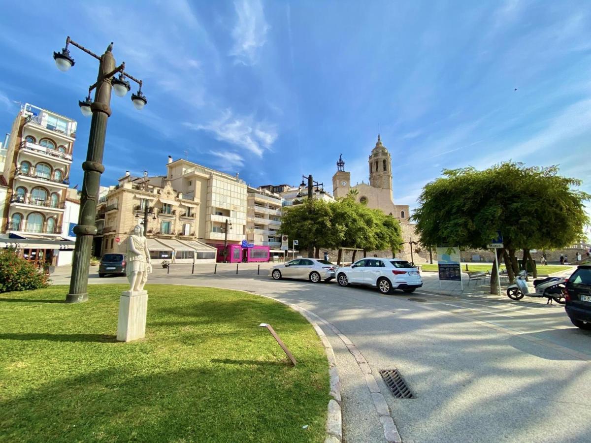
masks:
[[[121,292],[121,297],[119,297],[117,340],[132,341],[144,338],[147,312],[148,291]]]

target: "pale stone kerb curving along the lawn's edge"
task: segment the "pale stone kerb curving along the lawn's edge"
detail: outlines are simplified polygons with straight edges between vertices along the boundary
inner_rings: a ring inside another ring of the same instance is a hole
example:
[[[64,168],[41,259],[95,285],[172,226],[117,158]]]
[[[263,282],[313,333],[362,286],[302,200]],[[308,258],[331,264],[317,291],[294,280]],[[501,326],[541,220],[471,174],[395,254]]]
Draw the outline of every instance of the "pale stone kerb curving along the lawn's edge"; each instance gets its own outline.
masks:
[[[187,285],[178,285],[178,286],[187,286]],[[211,289],[225,289],[225,288],[217,288],[216,286],[199,286],[199,288],[211,288]],[[279,302],[287,307],[290,307],[294,311],[298,312],[302,317],[306,318],[308,323],[312,325],[314,331],[316,331],[316,335],[322,341],[322,346],[324,346],[324,353],[326,353],[326,359],[329,361],[329,375],[330,375],[330,392],[329,395],[332,399],[329,400],[329,404],[327,407],[327,416],[326,416],[326,434],[328,437],[326,438],[326,442],[342,442],[343,441],[343,420],[342,420],[342,412],[341,412],[341,396],[340,396],[340,380],[339,380],[339,373],[336,370],[336,359],[335,359],[335,351],[333,350],[332,345],[328,338],[326,338],[326,334],[322,331],[322,328],[316,323],[316,321],[312,318],[310,311],[302,308],[299,305],[294,305],[293,303],[288,303],[282,301],[280,299],[270,297],[269,295],[258,294],[256,292],[250,291],[242,291],[241,289],[231,289],[232,291],[236,292],[244,292],[245,294],[249,295],[257,295],[258,297],[268,298],[269,300]],[[335,406],[336,403],[336,406]]]

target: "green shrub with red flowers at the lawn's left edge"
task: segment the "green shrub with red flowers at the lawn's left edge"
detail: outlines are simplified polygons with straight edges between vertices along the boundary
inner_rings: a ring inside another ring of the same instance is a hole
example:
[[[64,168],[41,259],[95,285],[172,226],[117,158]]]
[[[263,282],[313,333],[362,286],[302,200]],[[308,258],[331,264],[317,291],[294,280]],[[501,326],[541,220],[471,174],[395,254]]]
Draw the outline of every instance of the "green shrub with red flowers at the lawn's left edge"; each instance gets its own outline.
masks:
[[[46,288],[49,276],[33,263],[17,255],[14,249],[0,250],[0,293]]]

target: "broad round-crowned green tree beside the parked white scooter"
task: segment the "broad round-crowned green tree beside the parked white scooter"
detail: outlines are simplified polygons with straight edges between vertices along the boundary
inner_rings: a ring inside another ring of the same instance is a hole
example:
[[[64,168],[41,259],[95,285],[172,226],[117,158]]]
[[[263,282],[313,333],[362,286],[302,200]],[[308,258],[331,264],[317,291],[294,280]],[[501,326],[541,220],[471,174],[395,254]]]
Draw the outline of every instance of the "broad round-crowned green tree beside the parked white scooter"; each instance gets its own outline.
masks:
[[[583,202],[589,194],[576,190],[575,178],[561,177],[558,167],[525,167],[502,162],[483,171],[473,167],[444,170],[444,177],[428,183],[412,219],[423,245],[459,245],[485,249],[500,229],[504,249],[497,250],[512,279],[517,250],[524,265],[530,249],[558,249],[576,242],[589,223]],[[492,269],[491,294],[496,294]]]

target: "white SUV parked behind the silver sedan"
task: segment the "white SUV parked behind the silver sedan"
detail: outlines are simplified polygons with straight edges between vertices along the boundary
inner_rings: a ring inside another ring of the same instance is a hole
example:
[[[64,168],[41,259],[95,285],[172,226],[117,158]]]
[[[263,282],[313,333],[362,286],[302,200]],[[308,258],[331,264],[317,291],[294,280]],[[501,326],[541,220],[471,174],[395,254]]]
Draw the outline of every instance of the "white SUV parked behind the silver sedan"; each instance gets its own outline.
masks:
[[[394,289],[413,292],[423,286],[418,269],[401,259],[364,258],[350,266],[339,268],[336,281],[340,286],[362,284],[376,286],[382,294]]]

